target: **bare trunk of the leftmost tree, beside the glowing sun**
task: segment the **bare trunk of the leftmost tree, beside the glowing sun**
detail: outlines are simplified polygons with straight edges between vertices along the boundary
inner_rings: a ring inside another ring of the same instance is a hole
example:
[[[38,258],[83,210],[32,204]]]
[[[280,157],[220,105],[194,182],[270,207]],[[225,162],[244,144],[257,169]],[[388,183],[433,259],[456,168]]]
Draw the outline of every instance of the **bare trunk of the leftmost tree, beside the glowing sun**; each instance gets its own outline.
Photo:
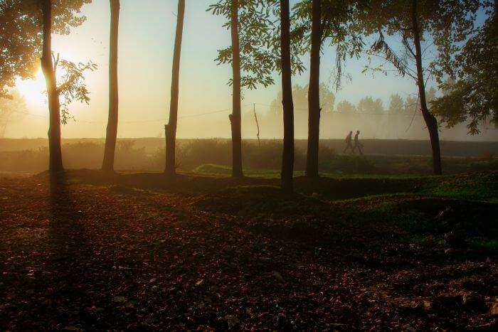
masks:
[[[50,124],[48,127],[48,169],[51,172],[63,171],[62,151],[60,150],[60,103],[55,78],[55,68],[52,61],[52,1],[43,0],[43,52],[41,69],[45,76],[48,96],[48,111]]]

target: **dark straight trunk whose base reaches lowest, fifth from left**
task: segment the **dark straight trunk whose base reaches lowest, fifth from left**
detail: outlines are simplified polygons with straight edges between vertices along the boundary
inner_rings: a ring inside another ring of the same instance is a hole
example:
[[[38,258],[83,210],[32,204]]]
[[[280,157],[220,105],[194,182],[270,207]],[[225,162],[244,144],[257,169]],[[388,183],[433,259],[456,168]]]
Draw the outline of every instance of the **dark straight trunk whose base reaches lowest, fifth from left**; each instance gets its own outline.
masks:
[[[294,190],[294,104],[290,68],[290,9],[289,0],[280,0],[280,52],[282,57],[282,106],[284,109],[284,149],[282,154],[281,186],[285,193]]]

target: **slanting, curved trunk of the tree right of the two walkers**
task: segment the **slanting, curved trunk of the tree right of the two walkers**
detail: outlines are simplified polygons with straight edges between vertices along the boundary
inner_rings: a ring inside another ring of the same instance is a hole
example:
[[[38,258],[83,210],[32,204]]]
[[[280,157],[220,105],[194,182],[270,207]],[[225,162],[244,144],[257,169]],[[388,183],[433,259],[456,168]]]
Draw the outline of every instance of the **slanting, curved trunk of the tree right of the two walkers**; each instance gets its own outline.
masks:
[[[413,43],[415,43],[415,61],[417,64],[417,85],[418,95],[420,97],[420,109],[422,110],[423,119],[427,125],[430,136],[430,146],[433,150],[433,168],[434,173],[440,175],[441,169],[441,153],[439,145],[438,120],[429,112],[427,100],[425,98],[425,81],[423,77],[422,67],[422,50],[420,48],[420,28],[418,26],[418,9],[417,0],[413,0],[412,4],[412,24],[413,24]]]

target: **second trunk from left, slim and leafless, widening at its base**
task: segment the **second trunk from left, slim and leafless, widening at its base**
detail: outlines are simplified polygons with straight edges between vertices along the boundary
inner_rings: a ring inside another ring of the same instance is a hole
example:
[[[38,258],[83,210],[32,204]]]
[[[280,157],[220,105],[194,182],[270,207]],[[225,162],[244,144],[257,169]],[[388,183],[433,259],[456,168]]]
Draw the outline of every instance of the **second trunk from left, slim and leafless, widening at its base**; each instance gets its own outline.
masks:
[[[111,28],[109,52],[109,117],[105,133],[104,161],[102,171],[114,171],[114,159],[117,138],[118,98],[117,89],[117,36],[120,26],[120,0],[110,0]]]

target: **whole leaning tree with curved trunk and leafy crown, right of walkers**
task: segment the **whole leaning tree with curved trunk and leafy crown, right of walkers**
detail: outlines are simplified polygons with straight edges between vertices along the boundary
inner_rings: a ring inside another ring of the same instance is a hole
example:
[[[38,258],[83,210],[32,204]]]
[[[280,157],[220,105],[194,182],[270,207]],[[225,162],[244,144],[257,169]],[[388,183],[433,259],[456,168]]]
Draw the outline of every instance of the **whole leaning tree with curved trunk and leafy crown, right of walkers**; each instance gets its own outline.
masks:
[[[371,45],[371,53],[381,55],[400,75],[408,75],[415,81],[420,111],[430,136],[435,174],[442,173],[438,121],[428,108],[425,81],[433,75],[438,59],[451,58],[458,43],[465,41],[472,31],[478,3],[475,0],[372,0],[369,9],[361,13],[366,34],[378,34],[378,39]],[[384,34],[401,36],[403,51],[391,48]],[[435,56],[424,56],[431,49],[422,50],[421,43],[426,37],[434,41],[434,48],[438,50]],[[379,70],[379,67],[375,69]]]

